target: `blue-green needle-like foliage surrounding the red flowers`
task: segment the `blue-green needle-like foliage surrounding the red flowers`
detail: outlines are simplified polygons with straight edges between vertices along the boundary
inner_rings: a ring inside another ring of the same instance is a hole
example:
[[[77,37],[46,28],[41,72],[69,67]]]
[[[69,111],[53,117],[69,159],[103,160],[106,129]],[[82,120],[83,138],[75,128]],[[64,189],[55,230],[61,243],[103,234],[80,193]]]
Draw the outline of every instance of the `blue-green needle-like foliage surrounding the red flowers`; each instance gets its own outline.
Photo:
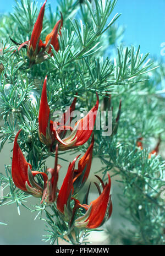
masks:
[[[100,171],[103,178],[107,171],[113,172],[113,177],[120,177],[123,194],[119,198],[124,217],[135,227],[130,233],[129,230],[124,234],[119,232],[117,237],[125,244],[163,244],[165,216],[161,187],[165,162],[160,155],[152,155],[149,159],[149,152],[154,148],[151,138],[157,140],[161,136],[161,145],[164,145],[164,88],[160,89],[164,64],[149,59],[149,53],[143,57],[140,46],[137,49],[123,46],[120,37],[124,29],[118,28],[116,21],[120,15],[112,17],[116,0],[107,0],[105,4],[101,0],[81,2],[61,0],[55,14],[48,6],[41,36],[45,38],[50,27],[53,29],[61,11],[64,25],[58,37],[60,50],[53,49],[52,56],[32,67],[29,67],[26,50],[22,48],[18,52],[18,46],[9,36],[19,43],[30,40],[38,15],[36,2],[16,1],[14,13],[1,17],[0,150],[7,141],[13,143],[15,134],[22,128],[19,145],[26,152],[27,162],[36,171],[46,169],[45,161],[53,153],[48,152],[37,134],[40,96],[46,75],[51,116],[55,110],[69,106],[76,93],[81,111],[95,105],[95,92],[100,96],[100,102],[109,93],[115,123],[119,101],[122,100],[117,133],[103,137],[102,130],[95,130],[94,146],[94,156],[99,157],[105,166]],[[143,150],[136,146],[140,137],[144,138]],[[85,152],[88,145],[81,146],[81,150]],[[76,149],[70,151],[74,153]],[[63,153],[59,157],[64,159]],[[1,205],[16,203],[18,209],[19,205],[27,207],[24,201],[29,195],[14,186],[10,166],[5,166],[5,171],[6,175],[1,174],[0,185],[8,193]],[[54,204],[40,205],[39,202],[34,210],[37,217],[46,221],[46,241],[58,243],[58,238],[73,244],[86,241],[90,230],[75,228],[73,238]],[[108,232],[112,232],[111,226]]]

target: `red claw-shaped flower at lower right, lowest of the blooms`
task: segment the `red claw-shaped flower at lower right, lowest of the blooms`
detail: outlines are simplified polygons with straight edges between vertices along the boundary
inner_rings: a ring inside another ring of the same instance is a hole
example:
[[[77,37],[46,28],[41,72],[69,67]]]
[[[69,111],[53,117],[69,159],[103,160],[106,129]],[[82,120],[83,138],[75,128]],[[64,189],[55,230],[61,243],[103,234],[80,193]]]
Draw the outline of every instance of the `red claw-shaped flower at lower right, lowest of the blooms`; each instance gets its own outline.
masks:
[[[97,228],[111,216],[112,201],[111,195],[109,194],[111,190],[111,178],[109,174],[108,181],[108,184],[102,182],[103,192],[96,200],[92,201],[90,205],[80,205],[86,209],[86,213],[75,220],[76,227]]]

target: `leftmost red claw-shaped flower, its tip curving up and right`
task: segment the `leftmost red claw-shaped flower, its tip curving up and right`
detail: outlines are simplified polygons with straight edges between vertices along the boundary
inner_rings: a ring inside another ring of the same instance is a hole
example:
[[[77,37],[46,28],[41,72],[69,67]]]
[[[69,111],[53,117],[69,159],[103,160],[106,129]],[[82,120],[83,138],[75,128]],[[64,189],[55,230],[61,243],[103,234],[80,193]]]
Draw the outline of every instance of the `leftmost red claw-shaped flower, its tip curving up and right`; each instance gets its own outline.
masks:
[[[12,178],[16,187],[25,191],[34,197],[45,197],[47,175],[45,172],[31,171],[31,165],[26,162],[17,139],[21,129],[14,140],[13,160],[12,160]],[[34,179],[36,175],[42,175],[44,186],[41,187]]]

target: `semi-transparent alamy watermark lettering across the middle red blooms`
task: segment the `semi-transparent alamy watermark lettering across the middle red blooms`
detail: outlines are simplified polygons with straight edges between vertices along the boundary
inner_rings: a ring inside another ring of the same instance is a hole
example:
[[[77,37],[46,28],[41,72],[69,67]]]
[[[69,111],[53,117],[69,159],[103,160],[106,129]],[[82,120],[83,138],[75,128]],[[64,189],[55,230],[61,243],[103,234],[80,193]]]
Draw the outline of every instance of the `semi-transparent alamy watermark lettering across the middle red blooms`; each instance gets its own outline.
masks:
[[[59,123],[58,129],[69,130],[73,127],[77,130],[102,130],[102,136],[112,134],[112,111],[83,111],[70,112],[69,107],[62,111],[54,111],[54,121]]]

